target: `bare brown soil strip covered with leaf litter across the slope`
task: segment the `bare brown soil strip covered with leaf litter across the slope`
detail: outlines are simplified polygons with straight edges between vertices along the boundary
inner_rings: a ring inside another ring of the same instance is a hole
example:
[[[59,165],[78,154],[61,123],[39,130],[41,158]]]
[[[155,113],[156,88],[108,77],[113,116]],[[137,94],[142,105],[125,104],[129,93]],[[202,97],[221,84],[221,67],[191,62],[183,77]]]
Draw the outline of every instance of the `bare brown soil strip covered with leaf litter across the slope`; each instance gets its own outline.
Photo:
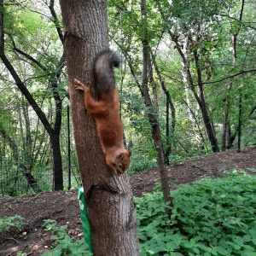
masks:
[[[172,189],[178,184],[192,183],[202,177],[220,177],[224,170],[256,169],[256,147],[246,148],[241,153],[224,152],[210,154],[197,160],[186,160],[167,166]],[[135,196],[154,189],[159,182],[157,169],[131,176]],[[0,199],[0,218],[20,215],[26,219],[21,231],[11,230],[0,237],[0,256],[14,256],[18,252],[38,256],[51,248],[49,233],[44,231],[43,220],[55,219],[58,226],[67,224],[71,236],[81,236],[79,201],[77,190],[44,192],[20,197]]]

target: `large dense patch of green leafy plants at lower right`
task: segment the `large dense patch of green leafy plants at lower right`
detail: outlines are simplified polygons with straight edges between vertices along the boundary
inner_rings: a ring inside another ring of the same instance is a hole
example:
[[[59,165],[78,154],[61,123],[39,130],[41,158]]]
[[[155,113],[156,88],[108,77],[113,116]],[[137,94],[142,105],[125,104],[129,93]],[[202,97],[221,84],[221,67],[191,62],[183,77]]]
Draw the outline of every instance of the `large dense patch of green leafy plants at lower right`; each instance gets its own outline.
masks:
[[[160,191],[137,198],[141,255],[255,255],[255,195],[256,177],[232,172],[172,191],[171,219]]]

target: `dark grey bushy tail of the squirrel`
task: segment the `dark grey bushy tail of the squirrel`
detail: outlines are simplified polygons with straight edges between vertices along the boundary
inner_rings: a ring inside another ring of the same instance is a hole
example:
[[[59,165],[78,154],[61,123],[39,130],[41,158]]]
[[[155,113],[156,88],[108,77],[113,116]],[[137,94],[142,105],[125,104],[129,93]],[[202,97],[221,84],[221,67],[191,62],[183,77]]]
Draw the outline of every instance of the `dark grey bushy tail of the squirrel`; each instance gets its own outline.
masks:
[[[119,56],[111,49],[104,49],[96,55],[93,63],[93,76],[99,94],[106,90],[113,90],[115,86],[113,67],[119,67],[120,62]]]

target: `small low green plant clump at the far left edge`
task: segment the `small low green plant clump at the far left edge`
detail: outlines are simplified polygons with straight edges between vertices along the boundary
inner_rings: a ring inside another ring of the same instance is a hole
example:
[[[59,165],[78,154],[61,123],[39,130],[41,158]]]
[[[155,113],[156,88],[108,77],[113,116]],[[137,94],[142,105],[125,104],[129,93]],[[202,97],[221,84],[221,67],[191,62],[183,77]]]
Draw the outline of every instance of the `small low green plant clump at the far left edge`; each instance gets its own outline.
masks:
[[[9,231],[11,228],[15,230],[21,230],[23,224],[25,224],[25,218],[21,217],[20,215],[15,215],[11,217],[3,217],[0,218],[0,236],[6,231]]]

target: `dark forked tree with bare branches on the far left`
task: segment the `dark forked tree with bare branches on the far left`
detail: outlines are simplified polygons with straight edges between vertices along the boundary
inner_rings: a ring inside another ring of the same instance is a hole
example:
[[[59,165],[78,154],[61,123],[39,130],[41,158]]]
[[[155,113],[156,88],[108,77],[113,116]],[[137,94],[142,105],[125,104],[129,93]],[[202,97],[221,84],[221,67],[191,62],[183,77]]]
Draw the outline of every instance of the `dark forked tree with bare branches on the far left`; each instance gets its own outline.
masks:
[[[16,3],[18,5],[18,3]],[[8,7],[8,3],[7,3]],[[58,35],[63,40],[61,36],[60,26],[58,24],[57,17],[54,11],[54,0],[51,0],[49,3],[50,13],[53,16],[53,21],[58,32]],[[9,73],[15,80],[15,84],[20,89],[21,93],[26,97],[27,102],[32,106],[35,113],[38,115],[38,119],[44,125],[45,130],[49,134],[49,140],[51,143],[52,155],[53,155],[53,172],[54,172],[54,188],[55,190],[63,189],[63,170],[62,170],[62,162],[61,162],[61,145],[60,145],[60,132],[61,132],[61,110],[62,110],[62,98],[60,94],[59,84],[60,84],[60,76],[62,73],[62,69],[64,67],[64,58],[61,56],[59,63],[56,63],[55,71],[50,71],[48,67],[45,67],[44,64],[38,61],[35,57],[25,52],[23,49],[20,49],[15,44],[15,39],[11,33],[4,30],[4,14],[6,12],[5,3],[0,1],[0,58],[3,61],[4,66],[9,70]],[[44,72],[44,76],[49,76],[49,84],[52,88],[52,96],[55,100],[55,121],[54,125],[50,124],[47,119],[42,108],[39,107],[38,103],[32,96],[32,93],[27,89],[26,82],[21,79],[20,74],[18,73],[18,69],[11,63],[8,55],[5,54],[5,41],[6,38],[9,37],[9,42],[12,45],[15,54],[25,57],[25,62],[32,63],[31,66],[38,67],[41,71]],[[24,43],[24,42],[23,42]],[[40,59],[40,57],[38,58]]]

